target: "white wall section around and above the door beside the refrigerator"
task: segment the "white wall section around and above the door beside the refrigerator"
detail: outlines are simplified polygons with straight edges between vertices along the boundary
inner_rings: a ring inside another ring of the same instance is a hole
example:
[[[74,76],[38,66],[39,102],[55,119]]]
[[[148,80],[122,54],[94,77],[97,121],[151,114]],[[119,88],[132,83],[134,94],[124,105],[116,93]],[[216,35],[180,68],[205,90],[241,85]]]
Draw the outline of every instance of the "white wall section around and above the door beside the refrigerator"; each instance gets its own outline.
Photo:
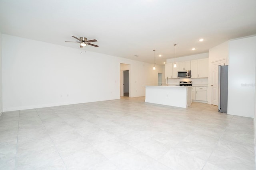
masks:
[[[209,49],[209,77],[208,77],[208,104],[212,104],[212,63],[220,59],[226,59],[226,65],[228,65],[228,41],[217,45]]]

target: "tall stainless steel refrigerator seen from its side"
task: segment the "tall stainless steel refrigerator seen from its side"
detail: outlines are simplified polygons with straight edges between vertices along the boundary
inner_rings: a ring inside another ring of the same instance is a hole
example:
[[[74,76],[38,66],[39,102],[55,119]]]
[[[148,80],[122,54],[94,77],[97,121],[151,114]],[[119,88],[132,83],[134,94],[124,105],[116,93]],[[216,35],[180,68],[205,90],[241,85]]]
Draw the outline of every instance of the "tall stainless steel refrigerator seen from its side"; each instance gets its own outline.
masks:
[[[218,111],[228,113],[228,66],[219,66]]]

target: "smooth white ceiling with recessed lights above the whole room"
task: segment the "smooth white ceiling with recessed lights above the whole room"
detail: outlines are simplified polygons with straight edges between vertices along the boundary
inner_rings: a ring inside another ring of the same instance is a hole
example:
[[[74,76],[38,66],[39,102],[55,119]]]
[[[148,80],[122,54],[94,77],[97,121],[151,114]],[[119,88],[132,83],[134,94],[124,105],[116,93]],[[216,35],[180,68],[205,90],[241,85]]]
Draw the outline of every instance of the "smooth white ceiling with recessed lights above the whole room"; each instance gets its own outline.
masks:
[[[161,64],[174,43],[182,57],[256,34],[256,0],[0,0],[0,31],[78,49],[64,41],[97,39],[81,49],[147,63],[156,49]]]

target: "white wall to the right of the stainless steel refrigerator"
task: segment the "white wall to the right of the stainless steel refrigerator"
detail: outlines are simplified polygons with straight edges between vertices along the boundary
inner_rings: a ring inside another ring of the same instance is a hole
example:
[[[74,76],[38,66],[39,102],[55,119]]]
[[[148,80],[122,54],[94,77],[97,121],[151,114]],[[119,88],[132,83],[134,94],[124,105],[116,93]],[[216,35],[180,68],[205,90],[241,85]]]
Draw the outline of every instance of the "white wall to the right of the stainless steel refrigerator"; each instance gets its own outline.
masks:
[[[254,117],[256,36],[229,42],[228,114]]]

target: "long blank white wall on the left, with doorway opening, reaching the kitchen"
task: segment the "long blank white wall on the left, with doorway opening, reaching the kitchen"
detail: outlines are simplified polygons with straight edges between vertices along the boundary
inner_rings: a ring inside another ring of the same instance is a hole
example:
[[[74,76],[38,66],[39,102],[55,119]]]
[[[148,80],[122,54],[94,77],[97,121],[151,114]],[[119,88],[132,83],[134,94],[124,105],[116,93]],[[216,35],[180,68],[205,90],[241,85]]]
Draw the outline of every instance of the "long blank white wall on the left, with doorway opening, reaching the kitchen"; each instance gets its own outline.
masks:
[[[157,84],[153,64],[85,50],[2,34],[3,110],[118,99],[120,63],[131,64],[130,97]]]

